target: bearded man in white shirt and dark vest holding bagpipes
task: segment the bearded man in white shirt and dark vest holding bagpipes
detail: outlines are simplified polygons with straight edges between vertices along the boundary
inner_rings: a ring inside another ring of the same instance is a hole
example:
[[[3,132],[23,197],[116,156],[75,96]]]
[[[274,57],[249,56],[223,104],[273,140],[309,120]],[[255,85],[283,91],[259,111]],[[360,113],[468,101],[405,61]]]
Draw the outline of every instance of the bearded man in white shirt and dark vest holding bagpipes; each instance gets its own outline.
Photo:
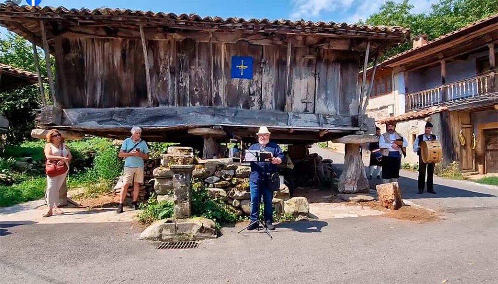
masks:
[[[394,129],[396,122],[389,121],[387,132],[380,135],[378,146],[382,154],[382,181],[383,183],[397,182],[399,179],[399,168],[401,167],[401,149],[408,146],[408,141]],[[402,139],[403,142],[399,140]],[[396,141],[398,140],[398,141]],[[398,143],[400,142],[398,145]]]

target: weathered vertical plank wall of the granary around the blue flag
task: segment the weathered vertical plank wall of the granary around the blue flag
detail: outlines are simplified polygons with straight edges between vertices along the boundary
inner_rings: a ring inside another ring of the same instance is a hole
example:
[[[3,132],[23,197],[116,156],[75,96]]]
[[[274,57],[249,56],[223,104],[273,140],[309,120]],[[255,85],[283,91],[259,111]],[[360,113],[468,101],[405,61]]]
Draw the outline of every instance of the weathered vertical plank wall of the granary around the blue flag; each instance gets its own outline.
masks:
[[[148,106],[139,38],[57,36],[55,42],[58,106]],[[153,106],[224,106],[327,115],[358,112],[360,54],[354,51],[191,38],[147,40],[146,44]],[[231,78],[232,56],[253,57],[251,80]]]

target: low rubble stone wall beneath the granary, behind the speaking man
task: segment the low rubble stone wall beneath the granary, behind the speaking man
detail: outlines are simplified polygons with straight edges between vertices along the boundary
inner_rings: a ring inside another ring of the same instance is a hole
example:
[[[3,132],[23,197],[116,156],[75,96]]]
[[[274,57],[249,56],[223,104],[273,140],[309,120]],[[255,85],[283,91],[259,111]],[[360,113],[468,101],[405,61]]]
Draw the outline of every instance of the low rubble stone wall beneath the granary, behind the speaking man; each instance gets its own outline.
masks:
[[[154,190],[158,201],[174,201],[171,165],[195,165],[192,177],[201,180],[213,198],[221,197],[239,216],[249,216],[250,167],[236,165],[231,158],[200,160],[191,153],[179,153],[176,148],[178,147],[169,147],[168,154],[162,155],[161,166],[153,170]],[[284,202],[290,198],[289,189],[282,185],[280,191],[273,196],[275,209],[283,213]]]

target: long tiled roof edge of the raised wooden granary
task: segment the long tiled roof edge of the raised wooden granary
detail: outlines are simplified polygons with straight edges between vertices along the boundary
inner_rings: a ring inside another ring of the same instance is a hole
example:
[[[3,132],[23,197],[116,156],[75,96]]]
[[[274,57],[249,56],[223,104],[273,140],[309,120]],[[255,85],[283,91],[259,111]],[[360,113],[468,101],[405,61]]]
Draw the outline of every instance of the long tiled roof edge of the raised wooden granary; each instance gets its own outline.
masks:
[[[67,9],[65,7],[40,7],[40,6],[18,6],[11,2],[0,4],[0,12],[31,12],[37,14],[58,14],[58,15],[76,15],[76,16],[138,16],[144,17],[144,22],[146,18],[156,18],[164,20],[177,20],[177,21],[193,21],[193,22],[204,22],[212,23],[218,25],[224,24],[257,24],[257,25],[273,25],[277,27],[301,27],[301,28],[324,28],[330,30],[332,33],[334,30],[346,30],[346,31],[357,31],[357,32],[373,32],[373,33],[389,33],[391,35],[398,35],[399,38],[404,41],[409,34],[409,29],[400,26],[371,26],[371,25],[357,25],[357,24],[347,24],[347,23],[336,23],[333,21],[323,22],[323,21],[305,21],[301,20],[269,20],[266,18],[255,19],[251,18],[246,20],[244,18],[228,17],[222,18],[219,16],[215,17],[201,17],[197,14],[180,14],[175,13],[164,13],[164,12],[152,12],[152,11],[139,11],[130,9],[113,9],[113,8],[97,8],[90,10],[87,8],[82,9]],[[101,17],[100,17],[101,18]]]

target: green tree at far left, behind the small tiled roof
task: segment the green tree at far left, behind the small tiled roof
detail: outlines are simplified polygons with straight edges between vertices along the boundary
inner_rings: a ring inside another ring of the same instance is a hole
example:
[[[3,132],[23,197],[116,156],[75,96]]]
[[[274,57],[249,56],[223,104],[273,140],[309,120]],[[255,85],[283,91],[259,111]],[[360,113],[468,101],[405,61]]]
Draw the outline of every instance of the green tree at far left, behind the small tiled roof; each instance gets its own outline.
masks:
[[[46,77],[45,57],[40,48],[38,48],[38,55],[40,72],[43,77]],[[0,40],[0,62],[36,73],[31,43],[10,32]],[[55,66],[53,58],[51,62],[52,66]],[[47,98],[50,97],[47,84],[45,84],[45,93]],[[0,93],[0,113],[5,115],[10,122],[10,131],[6,134],[7,143],[19,143],[30,137],[30,131],[35,126],[36,112],[40,107],[37,85]]]

